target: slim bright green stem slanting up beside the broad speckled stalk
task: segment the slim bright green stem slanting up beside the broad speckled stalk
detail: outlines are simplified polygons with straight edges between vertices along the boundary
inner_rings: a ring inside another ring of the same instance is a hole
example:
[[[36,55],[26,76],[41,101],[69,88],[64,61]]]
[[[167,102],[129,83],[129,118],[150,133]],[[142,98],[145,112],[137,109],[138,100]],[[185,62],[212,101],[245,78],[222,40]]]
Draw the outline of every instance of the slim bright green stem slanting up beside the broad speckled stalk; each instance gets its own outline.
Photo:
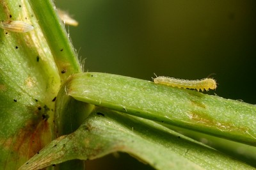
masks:
[[[29,3],[39,20],[38,23],[51,49],[61,80],[67,79],[72,73],[82,72],[76,52],[68,39],[64,24],[53,8],[52,1],[29,0]]]

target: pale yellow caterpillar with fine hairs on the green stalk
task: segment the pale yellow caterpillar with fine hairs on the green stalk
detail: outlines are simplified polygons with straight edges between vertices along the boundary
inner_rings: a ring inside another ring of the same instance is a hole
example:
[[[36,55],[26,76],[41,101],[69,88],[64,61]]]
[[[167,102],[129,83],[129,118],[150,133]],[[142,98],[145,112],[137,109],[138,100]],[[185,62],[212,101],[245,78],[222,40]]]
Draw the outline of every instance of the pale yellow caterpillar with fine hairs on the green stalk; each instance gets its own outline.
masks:
[[[172,77],[164,77],[159,76],[154,79],[154,82],[157,84],[165,84],[167,86],[173,86],[177,88],[185,88],[185,89],[197,89],[197,91],[206,90],[209,89],[216,89],[217,84],[214,79],[202,79],[202,80],[195,80],[195,81],[189,81],[184,79],[175,79]]]

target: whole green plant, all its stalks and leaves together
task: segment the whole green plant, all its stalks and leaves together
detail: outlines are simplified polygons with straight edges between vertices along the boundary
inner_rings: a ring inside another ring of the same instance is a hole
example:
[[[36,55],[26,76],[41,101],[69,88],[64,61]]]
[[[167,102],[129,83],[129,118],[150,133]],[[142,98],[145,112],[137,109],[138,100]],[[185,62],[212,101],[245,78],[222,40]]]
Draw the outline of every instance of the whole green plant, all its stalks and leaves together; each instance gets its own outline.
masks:
[[[243,163],[249,162],[246,156],[234,160],[172,128],[253,147],[255,105],[131,77],[81,73],[51,0],[3,0],[0,17],[34,27],[28,33],[0,29],[1,169],[83,169],[84,160],[115,151],[156,169],[254,169]],[[81,160],[56,165],[73,159]]]

